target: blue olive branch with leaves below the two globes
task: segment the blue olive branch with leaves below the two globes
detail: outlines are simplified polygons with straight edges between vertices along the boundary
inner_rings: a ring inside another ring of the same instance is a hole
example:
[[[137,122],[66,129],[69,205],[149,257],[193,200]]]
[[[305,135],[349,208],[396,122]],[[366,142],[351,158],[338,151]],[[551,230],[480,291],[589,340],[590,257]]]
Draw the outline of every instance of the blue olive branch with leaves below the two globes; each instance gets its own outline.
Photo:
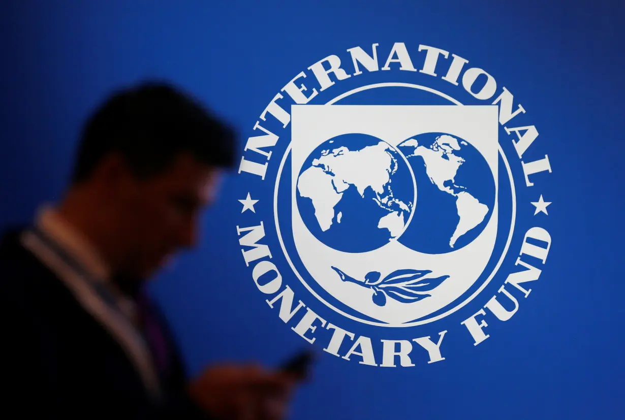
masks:
[[[431,296],[434,288],[439,286],[449,276],[425,278],[431,270],[401,269],[391,272],[384,278],[378,271],[369,271],[364,280],[347,276],[343,271],[332,267],[342,281],[352,282],[359,286],[368,287],[373,291],[371,300],[377,306],[386,305],[387,297],[402,303],[416,302]]]

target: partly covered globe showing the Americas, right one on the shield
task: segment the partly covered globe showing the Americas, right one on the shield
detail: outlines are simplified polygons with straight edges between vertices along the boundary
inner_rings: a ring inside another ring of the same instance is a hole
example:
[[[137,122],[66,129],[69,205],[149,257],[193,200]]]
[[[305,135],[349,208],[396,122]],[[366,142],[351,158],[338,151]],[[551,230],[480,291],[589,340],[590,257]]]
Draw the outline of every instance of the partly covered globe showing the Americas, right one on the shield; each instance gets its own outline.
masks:
[[[419,205],[397,239],[428,254],[454,251],[484,230],[495,202],[486,159],[471,143],[446,133],[423,133],[397,146],[408,159],[419,189]]]

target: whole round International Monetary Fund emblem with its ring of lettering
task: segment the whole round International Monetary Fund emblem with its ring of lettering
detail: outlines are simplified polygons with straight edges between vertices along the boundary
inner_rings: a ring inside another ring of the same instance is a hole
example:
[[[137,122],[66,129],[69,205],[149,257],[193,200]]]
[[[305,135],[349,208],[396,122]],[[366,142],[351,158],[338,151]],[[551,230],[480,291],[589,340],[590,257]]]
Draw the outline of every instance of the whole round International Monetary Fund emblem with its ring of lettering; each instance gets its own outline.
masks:
[[[526,158],[537,129],[513,124],[525,109],[467,59],[368,50],[297,74],[254,124],[237,181],[242,257],[269,307],[324,351],[441,361],[448,331],[483,342],[539,278],[551,203],[534,189],[551,164]]]

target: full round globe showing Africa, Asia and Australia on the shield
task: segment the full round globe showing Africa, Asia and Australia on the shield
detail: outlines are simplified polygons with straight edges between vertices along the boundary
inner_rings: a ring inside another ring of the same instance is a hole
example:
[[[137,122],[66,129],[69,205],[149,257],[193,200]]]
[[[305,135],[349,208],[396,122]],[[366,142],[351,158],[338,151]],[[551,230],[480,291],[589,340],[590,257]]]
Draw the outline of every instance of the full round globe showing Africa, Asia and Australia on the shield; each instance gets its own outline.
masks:
[[[325,141],[307,157],[297,178],[302,221],[338,251],[372,251],[401,236],[415,199],[406,158],[367,134]]]

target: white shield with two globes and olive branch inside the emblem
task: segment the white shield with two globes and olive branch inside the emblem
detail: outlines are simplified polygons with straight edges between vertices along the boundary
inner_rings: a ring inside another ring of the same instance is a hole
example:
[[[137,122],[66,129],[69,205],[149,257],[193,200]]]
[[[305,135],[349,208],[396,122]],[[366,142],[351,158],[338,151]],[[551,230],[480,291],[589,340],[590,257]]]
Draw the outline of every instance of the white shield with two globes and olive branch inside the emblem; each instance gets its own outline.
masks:
[[[489,280],[497,106],[296,105],[291,118],[281,176],[291,178],[295,249],[285,252],[327,306],[411,326]]]

